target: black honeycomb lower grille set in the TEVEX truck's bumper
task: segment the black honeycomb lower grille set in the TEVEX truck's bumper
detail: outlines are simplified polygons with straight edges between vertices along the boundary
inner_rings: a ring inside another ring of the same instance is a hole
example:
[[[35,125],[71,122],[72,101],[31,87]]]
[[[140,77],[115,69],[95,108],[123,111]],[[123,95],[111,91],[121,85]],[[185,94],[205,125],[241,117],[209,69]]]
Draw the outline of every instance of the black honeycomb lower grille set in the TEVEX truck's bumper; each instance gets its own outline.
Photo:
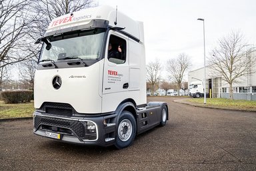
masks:
[[[38,129],[40,125],[57,126],[60,128],[67,128],[72,130],[81,139],[85,138],[85,126],[83,123],[77,120],[67,120],[62,118],[49,118],[45,116],[35,116],[35,129]]]

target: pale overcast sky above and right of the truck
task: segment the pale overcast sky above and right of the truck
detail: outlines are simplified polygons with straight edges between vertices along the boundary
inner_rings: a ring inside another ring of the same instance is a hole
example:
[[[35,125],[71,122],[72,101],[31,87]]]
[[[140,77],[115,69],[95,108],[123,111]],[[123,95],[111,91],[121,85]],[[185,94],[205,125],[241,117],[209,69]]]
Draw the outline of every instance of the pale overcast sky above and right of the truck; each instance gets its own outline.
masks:
[[[193,69],[203,67],[203,21],[206,55],[218,39],[241,31],[247,43],[256,45],[256,0],[99,0],[99,5],[118,6],[132,19],[144,22],[147,63],[186,53]]]

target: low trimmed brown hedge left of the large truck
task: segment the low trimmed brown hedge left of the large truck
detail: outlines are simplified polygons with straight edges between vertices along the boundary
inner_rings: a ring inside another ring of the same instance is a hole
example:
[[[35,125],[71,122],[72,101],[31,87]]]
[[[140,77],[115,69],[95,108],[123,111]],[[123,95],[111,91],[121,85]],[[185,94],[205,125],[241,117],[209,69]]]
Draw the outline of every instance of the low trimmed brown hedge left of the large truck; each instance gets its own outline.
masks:
[[[3,91],[1,96],[5,103],[30,102],[33,98],[32,90]]]

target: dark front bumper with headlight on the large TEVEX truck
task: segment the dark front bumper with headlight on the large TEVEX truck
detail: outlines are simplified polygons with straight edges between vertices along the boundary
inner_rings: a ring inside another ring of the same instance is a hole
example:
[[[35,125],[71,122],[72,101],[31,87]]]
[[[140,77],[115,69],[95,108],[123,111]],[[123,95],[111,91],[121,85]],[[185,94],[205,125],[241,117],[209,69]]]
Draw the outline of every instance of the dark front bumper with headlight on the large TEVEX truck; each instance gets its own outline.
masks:
[[[45,137],[45,132],[53,132],[59,134],[58,140],[64,142],[110,146],[115,143],[115,120],[115,114],[82,117],[57,116],[35,111],[33,132]]]

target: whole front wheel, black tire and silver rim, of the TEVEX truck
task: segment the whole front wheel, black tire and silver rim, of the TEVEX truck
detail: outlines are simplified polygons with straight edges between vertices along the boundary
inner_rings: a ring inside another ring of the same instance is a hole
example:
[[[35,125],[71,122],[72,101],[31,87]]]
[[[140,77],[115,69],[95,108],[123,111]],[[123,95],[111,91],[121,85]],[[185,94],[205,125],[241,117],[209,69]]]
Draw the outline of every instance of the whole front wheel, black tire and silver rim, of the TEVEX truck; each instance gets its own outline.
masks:
[[[126,148],[133,144],[136,135],[136,121],[131,112],[124,110],[121,113],[116,130],[115,146],[118,149]]]

